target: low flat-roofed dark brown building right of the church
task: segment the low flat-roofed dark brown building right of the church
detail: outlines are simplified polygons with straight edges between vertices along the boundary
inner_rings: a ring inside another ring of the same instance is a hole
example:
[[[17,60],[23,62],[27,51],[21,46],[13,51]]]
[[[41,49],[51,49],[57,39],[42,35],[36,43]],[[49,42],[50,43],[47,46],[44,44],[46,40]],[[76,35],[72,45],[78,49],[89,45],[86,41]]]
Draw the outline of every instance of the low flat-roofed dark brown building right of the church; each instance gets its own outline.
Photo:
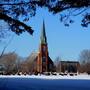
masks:
[[[78,61],[60,61],[60,72],[77,73],[79,66]]]

